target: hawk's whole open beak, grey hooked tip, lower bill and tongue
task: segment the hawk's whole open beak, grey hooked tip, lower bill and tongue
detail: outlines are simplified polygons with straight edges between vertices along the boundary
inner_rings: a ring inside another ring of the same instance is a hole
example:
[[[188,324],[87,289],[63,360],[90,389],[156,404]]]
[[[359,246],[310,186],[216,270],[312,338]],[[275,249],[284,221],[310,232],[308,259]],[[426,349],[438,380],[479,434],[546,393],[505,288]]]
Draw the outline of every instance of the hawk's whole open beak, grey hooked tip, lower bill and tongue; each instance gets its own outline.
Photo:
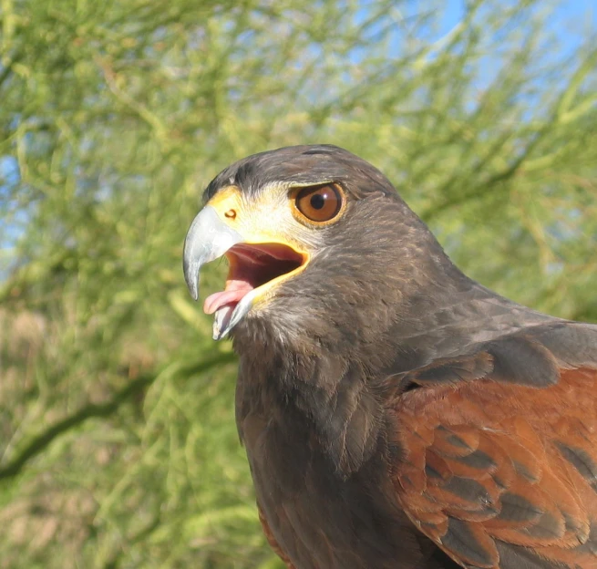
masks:
[[[273,242],[259,229],[249,233],[245,237],[223,221],[216,202],[199,212],[184,241],[184,278],[194,300],[199,298],[201,266],[222,255],[230,264],[225,290],[205,300],[205,312],[215,313],[214,340],[227,336],[257,300],[268,297],[273,285],[302,270],[308,260],[306,253],[283,240]]]

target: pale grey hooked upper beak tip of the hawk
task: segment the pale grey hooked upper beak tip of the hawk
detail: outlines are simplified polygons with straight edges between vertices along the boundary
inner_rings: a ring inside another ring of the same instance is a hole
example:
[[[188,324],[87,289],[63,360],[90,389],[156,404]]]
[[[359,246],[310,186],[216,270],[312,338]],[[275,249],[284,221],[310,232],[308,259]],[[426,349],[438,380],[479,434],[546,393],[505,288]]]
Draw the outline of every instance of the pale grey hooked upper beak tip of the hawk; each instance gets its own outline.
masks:
[[[182,268],[190,295],[199,298],[199,272],[203,264],[219,259],[232,245],[242,243],[241,233],[222,222],[211,205],[205,206],[190,224],[184,240]]]

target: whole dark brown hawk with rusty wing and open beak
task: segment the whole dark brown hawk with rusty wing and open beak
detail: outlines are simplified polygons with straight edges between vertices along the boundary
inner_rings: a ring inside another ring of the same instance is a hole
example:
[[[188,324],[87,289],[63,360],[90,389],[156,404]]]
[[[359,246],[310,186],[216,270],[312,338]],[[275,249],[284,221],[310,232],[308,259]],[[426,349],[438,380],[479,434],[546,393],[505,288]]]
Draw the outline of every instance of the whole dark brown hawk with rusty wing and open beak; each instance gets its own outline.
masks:
[[[365,160],[296,146],[211,181],[184,273],[263,529],[295,569],[597,568],[597,326],[469,279]]]

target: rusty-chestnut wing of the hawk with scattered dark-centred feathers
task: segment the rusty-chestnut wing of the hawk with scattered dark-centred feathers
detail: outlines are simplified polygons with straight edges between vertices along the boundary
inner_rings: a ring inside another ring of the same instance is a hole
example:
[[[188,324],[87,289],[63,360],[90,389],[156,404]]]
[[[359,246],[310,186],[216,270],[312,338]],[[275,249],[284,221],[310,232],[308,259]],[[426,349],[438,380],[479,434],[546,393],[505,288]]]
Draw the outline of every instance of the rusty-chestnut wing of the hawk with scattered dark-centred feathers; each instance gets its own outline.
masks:
[[[487,359],[471,358],[454,365],[476,375]],[[544,366],[551,375],[553,361]],[[418,373],[452,376],[437,364]],[[465,567],[596,569],[597,371],[559,367],[557,382],[540,387],[490,372],[474,379],[442,380],[393,403],[400,505]]]

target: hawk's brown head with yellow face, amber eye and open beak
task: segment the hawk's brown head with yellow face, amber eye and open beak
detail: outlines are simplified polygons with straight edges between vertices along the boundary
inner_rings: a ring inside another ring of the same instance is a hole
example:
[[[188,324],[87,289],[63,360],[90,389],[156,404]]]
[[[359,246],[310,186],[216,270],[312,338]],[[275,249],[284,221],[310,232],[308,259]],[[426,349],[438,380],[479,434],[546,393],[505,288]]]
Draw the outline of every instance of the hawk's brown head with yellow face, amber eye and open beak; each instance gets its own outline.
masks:
[[[215,339],[267,328],[353,349],[378,342],[408,291],[441,280],[437,266],[448,263],[386,177],[335,146],[240,160],[211,181],[204,202],[187,233],[184,274],[197,300],[201,266],[228,259],[225,289],[204,303]]]

